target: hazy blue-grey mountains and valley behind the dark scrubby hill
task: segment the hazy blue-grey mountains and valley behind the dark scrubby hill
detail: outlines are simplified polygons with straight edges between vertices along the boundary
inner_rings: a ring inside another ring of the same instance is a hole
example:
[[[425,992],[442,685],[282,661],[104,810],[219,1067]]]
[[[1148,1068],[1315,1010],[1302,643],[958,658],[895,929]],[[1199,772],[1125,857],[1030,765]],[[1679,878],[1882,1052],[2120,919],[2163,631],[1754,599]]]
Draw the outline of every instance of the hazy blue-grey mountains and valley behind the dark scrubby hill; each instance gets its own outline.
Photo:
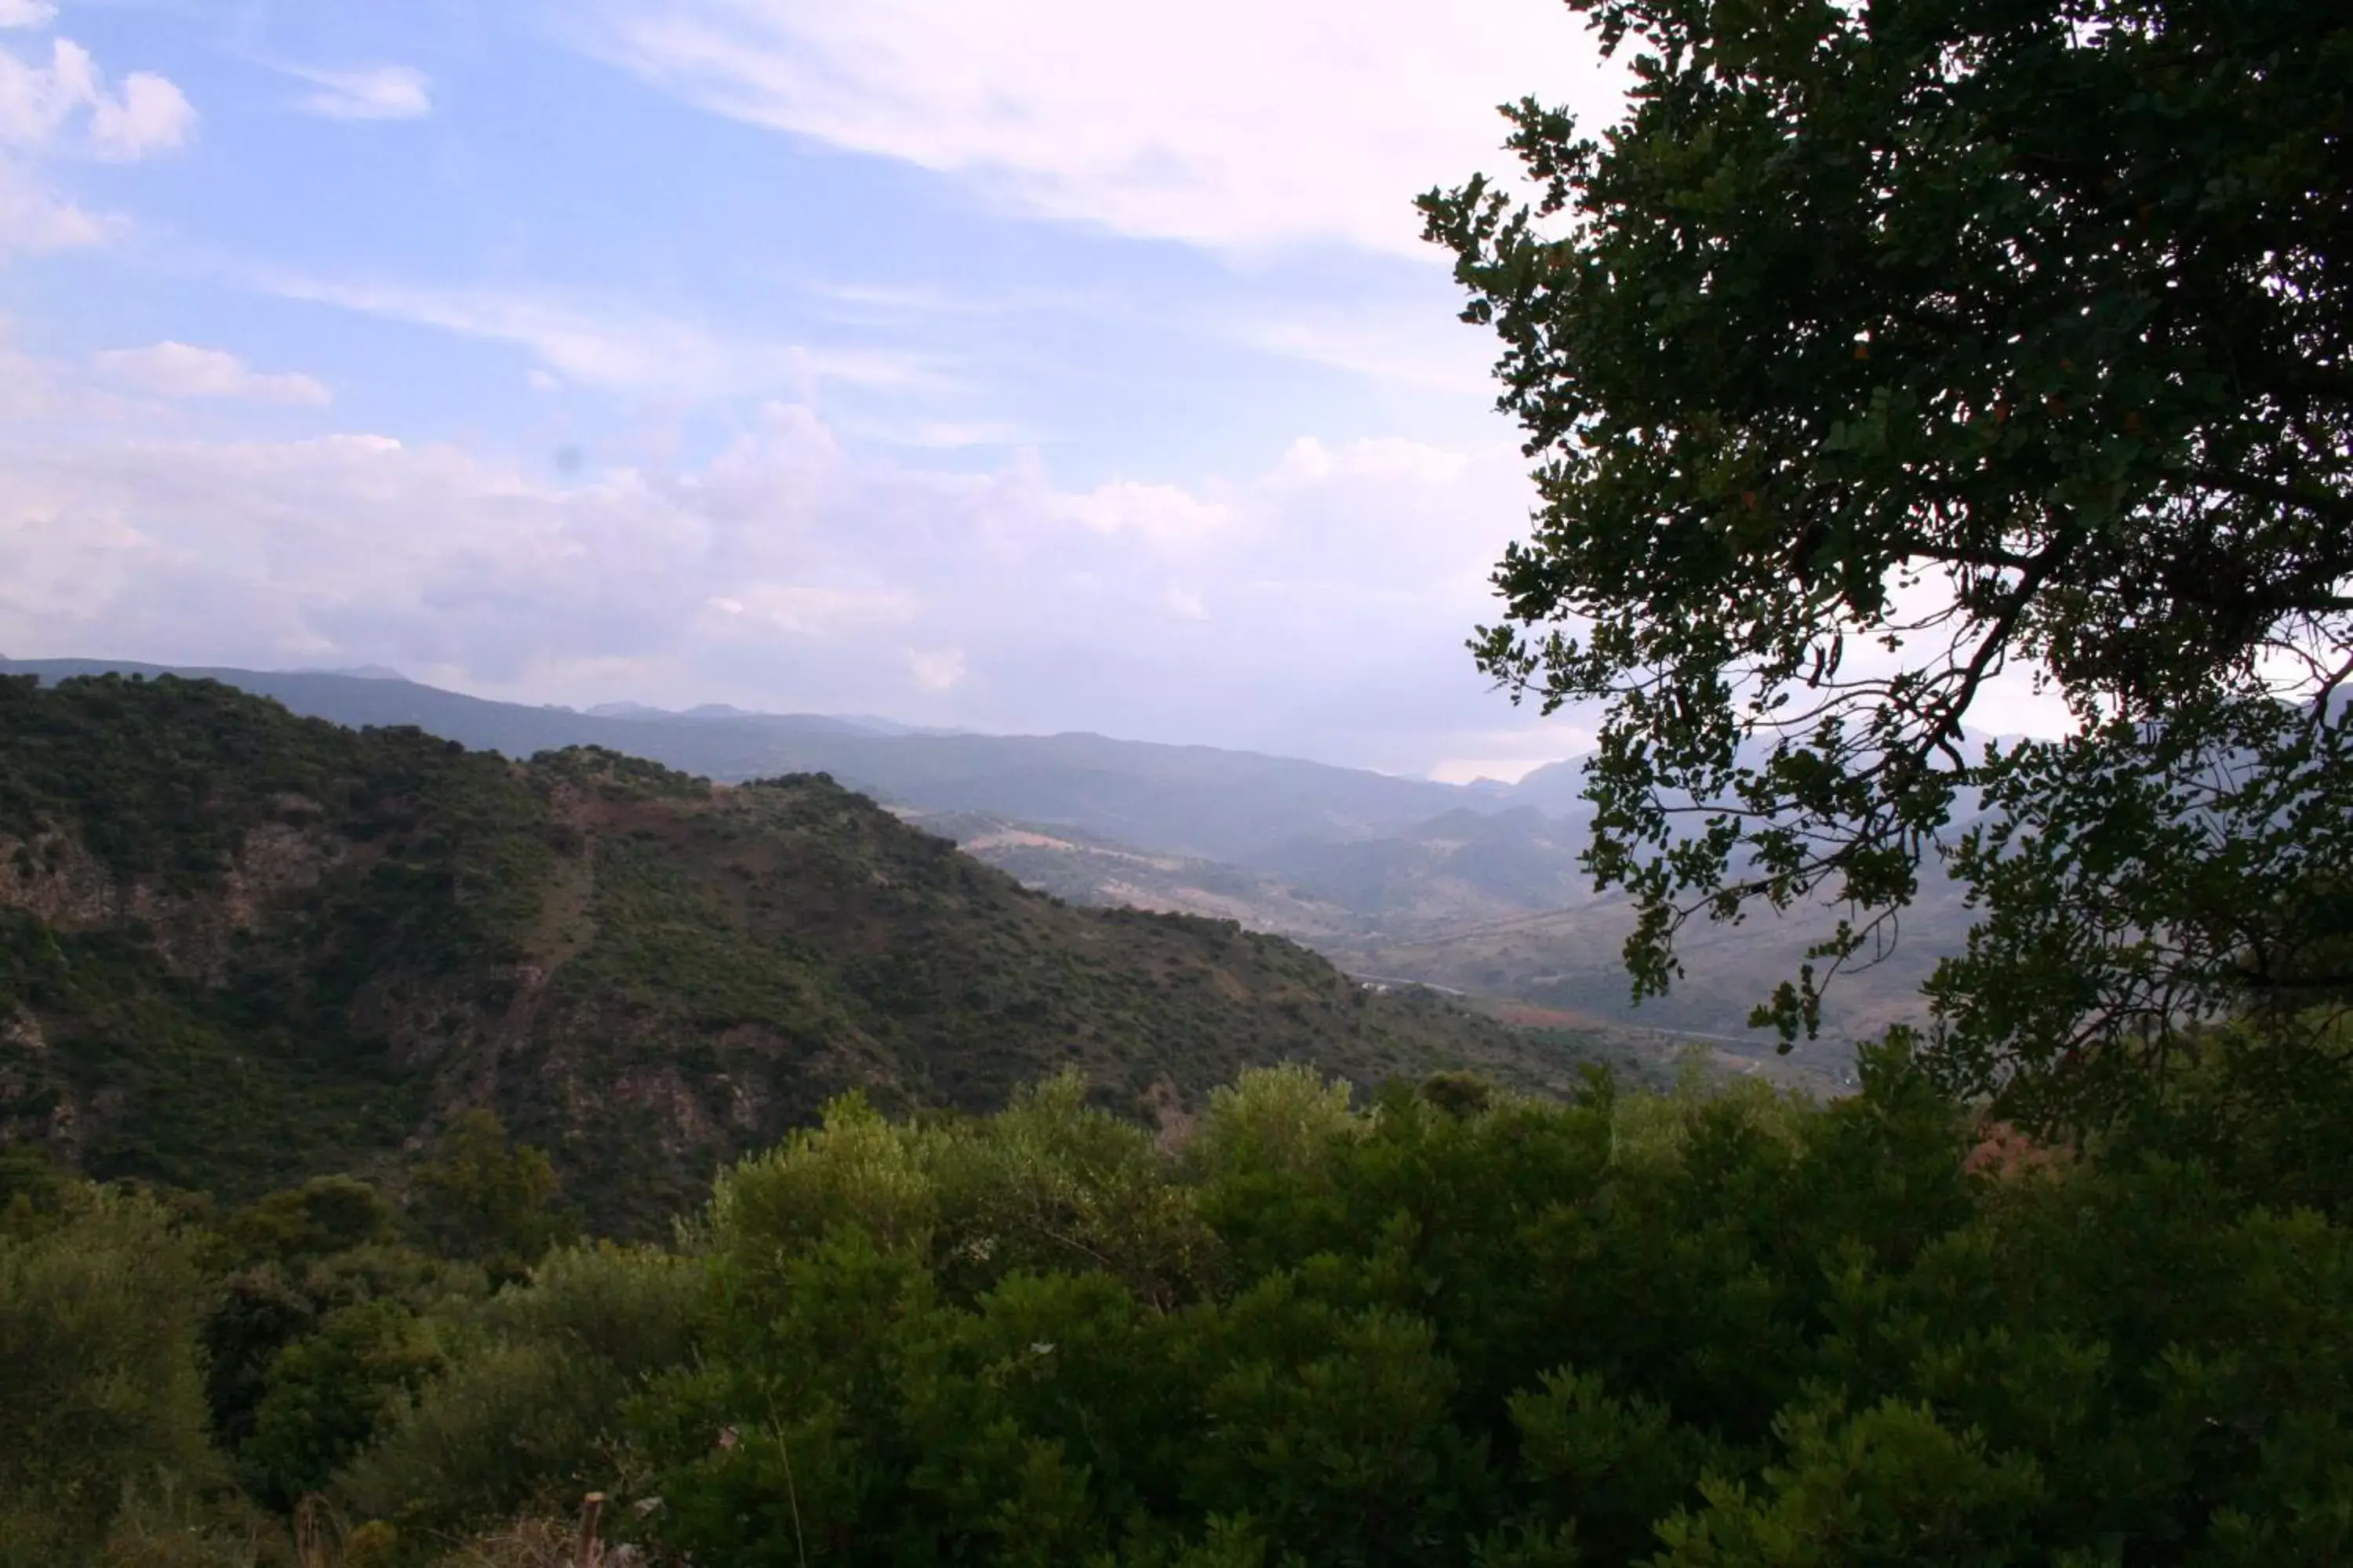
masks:
[[[64,679],[122,661],[0,661]],[[348,726],[412,724],[525,759],[600,745],[722,783],[831,773],[1021,882],[1082,905],[1134,905],[1242,922],[1308,943],[1362,976],[1424,980],[1598,1023],[1704,1034],[1744,1051],[1767,1041],[1748,1009],[1791,978],[1831,917],[1701,926],[1673,997],[1628,1001],[1621,898],[1598,898],[1577,858],[1591,806],[1581,764],[1515,785],[1447,785],[1207,745],[1094,733],[984,736],[889,719],[765,715],[727,705],[588,712],[459,696],[391,670],[264,672],[172,668],[271,696]],[[1897,957],[1833,997],[1845,1039],[1918,1013],[1918,985],[1967,936],[1955,889],[1932,882],[1906,912]]]

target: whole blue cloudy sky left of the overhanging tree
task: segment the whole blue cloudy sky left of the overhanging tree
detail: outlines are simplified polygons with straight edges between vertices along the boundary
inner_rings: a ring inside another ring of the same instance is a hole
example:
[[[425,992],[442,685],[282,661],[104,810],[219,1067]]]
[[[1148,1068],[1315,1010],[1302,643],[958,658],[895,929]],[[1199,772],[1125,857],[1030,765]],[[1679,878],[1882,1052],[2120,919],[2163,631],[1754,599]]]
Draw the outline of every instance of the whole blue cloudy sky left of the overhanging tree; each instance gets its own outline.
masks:
[[[1584,750],[1412,197],[1558,0],[0,0],[0,654]]]

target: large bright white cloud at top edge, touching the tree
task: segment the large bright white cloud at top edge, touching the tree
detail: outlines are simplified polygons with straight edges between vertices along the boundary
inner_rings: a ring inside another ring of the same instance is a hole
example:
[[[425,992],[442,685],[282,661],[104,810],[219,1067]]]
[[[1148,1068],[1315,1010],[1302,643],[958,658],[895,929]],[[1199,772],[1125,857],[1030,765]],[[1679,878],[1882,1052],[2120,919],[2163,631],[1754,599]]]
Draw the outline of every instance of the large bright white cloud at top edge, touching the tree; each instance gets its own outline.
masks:
[[[1504,172],[1494,106],[1614,108],[1558,0],[598,0],[593,54],[722,115],[1226,249],[1421,254],[1419,190]]]

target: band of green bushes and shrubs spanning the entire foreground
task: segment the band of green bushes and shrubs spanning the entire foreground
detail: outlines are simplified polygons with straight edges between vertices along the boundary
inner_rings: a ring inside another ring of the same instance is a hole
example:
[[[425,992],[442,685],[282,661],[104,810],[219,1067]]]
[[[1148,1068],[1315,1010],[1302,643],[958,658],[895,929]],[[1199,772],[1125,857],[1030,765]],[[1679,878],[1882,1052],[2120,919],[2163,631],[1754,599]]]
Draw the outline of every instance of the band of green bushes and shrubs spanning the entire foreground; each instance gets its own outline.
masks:
[[[845,1098],[661,1248],[485,1124],[407,1211],[19,1159],[0,1561],[294,1561],[311,1497],[308,1561],[553,1563],[588,1490],[795,1568],[2346,1561],[2348,1112],[2235,1034],[2082,1150],[1901,1041],[1828,1107],[1254,1072],[1181,1147],[1066,1077]]]

